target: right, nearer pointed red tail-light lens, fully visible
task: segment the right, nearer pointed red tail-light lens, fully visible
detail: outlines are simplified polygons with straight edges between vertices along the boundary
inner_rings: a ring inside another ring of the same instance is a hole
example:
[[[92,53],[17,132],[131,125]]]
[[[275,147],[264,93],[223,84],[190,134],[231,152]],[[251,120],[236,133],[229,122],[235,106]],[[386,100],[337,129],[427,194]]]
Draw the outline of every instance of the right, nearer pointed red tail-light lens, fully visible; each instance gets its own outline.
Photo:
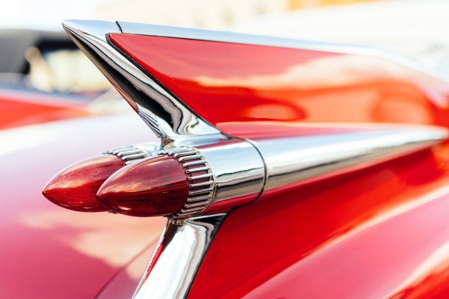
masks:
[[[122,168],[97,193],[103,204],[131,216],[174,214],[184,206],[187,196],[187,177],[181,164],[165,155]]]

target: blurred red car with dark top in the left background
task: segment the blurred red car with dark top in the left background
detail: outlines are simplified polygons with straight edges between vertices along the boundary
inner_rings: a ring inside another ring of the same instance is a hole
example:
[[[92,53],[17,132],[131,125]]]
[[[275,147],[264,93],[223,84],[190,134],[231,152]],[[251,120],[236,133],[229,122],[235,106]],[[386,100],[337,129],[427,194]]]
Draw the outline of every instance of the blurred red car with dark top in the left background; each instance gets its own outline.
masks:
[[[64,32],[0,29],[0,53],[0,129],[111,112],[107,80]]]

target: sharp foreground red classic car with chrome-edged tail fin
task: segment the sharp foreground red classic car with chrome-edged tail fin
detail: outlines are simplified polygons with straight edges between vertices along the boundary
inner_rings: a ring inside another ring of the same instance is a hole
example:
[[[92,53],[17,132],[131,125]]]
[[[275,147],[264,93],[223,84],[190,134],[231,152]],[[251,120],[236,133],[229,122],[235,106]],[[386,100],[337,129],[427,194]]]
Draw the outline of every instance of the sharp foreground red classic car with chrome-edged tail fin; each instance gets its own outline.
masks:
[[[143,121],[0,132],[2,297],[448,296],[444,78],[363,47],[63,26]]]

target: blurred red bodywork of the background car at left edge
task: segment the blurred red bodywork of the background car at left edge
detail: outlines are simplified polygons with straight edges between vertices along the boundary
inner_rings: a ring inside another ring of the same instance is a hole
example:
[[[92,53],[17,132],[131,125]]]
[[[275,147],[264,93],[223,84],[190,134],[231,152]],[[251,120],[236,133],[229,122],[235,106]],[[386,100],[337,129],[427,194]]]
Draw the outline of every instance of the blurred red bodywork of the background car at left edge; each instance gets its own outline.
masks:
[[[0,129],[86,116],[87,101],[0,89]]]

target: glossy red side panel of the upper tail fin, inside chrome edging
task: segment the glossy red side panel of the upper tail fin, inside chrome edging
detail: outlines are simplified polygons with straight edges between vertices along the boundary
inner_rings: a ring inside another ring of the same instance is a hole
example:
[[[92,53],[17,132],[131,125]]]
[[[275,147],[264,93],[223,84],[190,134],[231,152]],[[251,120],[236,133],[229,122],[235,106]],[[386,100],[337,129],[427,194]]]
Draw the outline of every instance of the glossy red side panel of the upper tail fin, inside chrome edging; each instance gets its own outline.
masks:
[[[111,33],[112,43],[224,132],[246,121],[449,124],[449,86],[384,59]],[[243,127],[241,125],[240,127]]]

